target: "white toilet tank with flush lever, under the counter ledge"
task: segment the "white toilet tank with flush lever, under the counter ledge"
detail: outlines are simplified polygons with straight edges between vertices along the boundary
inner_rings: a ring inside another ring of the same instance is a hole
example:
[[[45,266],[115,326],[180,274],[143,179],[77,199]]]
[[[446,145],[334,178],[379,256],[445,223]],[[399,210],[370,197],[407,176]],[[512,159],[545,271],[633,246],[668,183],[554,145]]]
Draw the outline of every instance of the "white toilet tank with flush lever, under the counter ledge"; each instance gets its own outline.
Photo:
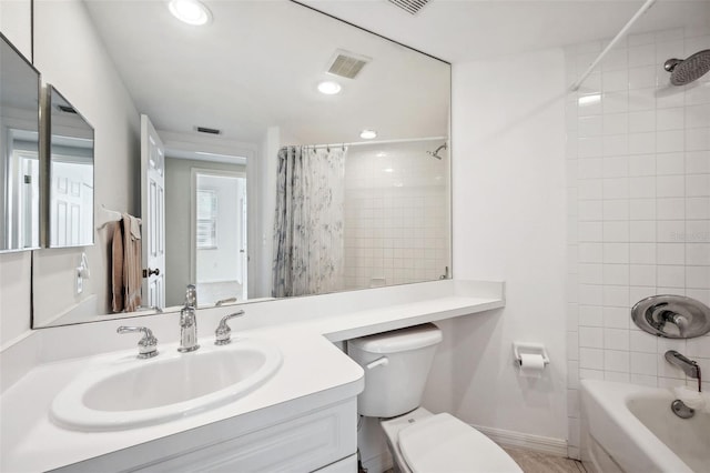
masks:
[[[357,412],[394,417],[418,407],[440,341],[432,323],[348,340],[347,354],[365,370]]]

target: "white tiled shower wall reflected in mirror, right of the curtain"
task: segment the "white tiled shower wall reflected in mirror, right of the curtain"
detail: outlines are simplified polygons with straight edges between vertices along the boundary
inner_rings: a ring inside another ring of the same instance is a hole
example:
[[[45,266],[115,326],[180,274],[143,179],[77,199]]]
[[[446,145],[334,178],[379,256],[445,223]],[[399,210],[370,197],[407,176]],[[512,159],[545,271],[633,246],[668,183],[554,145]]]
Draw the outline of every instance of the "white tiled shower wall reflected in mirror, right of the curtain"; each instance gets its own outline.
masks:
[[[351,147],[345,162],[347,289],[438,279],[450,268],[445,140]]]

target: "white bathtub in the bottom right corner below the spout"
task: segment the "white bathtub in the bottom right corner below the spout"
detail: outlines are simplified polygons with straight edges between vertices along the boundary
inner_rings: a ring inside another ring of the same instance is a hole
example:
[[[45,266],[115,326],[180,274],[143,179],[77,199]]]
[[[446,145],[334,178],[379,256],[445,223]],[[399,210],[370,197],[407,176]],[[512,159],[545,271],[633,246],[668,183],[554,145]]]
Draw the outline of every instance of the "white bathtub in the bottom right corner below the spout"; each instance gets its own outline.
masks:
[[[582,462],[601,473],[710,473],[710,414],[683,420],[671,390],[581,381]]]

